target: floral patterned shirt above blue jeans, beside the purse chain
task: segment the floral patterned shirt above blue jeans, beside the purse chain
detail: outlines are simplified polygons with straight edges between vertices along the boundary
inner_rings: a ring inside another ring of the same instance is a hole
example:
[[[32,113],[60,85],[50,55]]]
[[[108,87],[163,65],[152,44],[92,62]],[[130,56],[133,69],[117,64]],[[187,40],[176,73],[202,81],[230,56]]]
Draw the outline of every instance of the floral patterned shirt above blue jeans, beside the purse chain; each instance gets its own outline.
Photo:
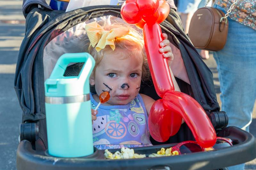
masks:
[[[234,0],[215,0],[214,4],[228,11],[233,2]],[[256,30],[256,0],[238,0],[229,17]]]

